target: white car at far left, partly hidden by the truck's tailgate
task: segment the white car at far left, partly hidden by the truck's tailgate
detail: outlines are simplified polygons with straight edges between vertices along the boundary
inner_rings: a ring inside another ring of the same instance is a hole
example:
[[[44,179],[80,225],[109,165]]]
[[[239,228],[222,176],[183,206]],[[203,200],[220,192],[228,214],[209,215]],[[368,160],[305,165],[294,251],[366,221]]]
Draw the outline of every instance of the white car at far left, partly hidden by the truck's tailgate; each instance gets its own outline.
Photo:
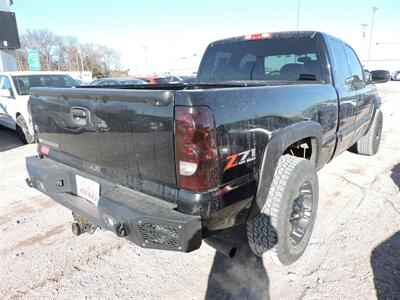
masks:
[[[0,72],[0,125],[16,130],[22,142],[35,141],[28,113],[31,87],[75,87],[79,84],[61,72]]]

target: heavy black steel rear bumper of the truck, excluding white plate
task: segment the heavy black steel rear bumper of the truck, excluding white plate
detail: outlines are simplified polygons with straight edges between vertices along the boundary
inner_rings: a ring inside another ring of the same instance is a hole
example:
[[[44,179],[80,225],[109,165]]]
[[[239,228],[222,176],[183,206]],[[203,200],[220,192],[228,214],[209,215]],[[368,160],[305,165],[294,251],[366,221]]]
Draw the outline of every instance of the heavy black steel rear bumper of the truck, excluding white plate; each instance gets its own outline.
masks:
[[[201,217],[180,213],[174,204],[48,158],[28,157],[26,166],[32,187],[96,226],[116,232],[123,224],[126,238],[143,248],[190,252],[201,245]],[[76,195],[76,175],[100,184],[97,206]]]

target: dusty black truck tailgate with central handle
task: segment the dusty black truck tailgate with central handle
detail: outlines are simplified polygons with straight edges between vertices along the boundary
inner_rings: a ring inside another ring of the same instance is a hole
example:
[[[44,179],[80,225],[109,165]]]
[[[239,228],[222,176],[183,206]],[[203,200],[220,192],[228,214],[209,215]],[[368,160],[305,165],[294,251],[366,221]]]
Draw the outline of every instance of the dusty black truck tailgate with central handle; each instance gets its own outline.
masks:
[[[172,91],[33,88],[40,144],[63,163],[123,178],[176,185]]]

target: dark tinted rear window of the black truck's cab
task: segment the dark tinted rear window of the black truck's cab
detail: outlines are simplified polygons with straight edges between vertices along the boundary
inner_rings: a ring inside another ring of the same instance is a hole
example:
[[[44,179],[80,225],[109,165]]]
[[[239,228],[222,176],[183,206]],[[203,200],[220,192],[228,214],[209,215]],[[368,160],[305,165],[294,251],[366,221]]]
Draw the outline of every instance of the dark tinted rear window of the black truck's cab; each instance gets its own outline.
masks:
[[[324,80],[315,41],[282,38],[216,43],[199,70],[199,82]]]

